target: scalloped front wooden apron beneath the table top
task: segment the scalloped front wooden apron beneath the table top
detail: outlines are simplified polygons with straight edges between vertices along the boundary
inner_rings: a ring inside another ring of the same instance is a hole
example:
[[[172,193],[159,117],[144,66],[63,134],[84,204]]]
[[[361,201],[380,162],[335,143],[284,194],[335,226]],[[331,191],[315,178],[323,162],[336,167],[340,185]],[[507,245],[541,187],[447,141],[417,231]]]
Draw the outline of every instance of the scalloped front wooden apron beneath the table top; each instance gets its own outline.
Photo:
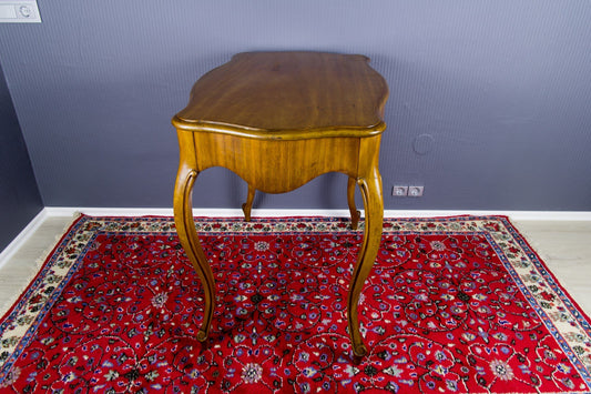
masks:
[[[257,140],[210,132],[192,133],[194,144],[182,144],[186,158],[201,172],[212,166],[226,168],[256,190],[285,193],[327,172],[351,178],[369,174],[380,135],[367,138],[313,138],[303,140]],[[188,135],[185,135],[188,137]],[[371,145],[373,158],[364,158]],[[191,151],[187,151],[191,150]],[[192,158],[193,156],[193,158]]]

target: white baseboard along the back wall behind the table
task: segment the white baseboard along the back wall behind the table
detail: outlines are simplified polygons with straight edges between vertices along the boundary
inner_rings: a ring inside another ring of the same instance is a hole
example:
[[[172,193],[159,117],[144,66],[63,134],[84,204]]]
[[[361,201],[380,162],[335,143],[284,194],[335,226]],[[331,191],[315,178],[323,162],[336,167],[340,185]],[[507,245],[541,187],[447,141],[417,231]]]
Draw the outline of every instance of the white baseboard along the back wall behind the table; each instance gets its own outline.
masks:
[[[80,206],[45,206],[48,216],[71,216],[77,212],[95,216],[172,216],[172,208],[80,208]],[[234,218],[242,216],[240,209],[194,209],[195,216]],[[282,216],[348,216],[348,210],[286,210],[286,209],[253,209],[253,218]],[[513,220],[536,221],[591,221],[591,211],[446,211],[446,210],[386,210],[385,218],[429,218],[452,215],[503,215]]]

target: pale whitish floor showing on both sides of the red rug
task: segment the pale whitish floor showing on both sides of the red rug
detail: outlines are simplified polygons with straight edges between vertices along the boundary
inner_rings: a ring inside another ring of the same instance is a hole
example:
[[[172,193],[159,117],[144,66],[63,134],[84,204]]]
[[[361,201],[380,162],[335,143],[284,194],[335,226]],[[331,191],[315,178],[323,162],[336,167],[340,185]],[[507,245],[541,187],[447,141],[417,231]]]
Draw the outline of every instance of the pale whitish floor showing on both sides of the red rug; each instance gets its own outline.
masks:
[[[71,221],[71,215],[45,216],[22,246],[1,264],[0,315],[27,286],[40,259],[49,252]],[[591,221],[512,222],[574,301],[591,315]]]

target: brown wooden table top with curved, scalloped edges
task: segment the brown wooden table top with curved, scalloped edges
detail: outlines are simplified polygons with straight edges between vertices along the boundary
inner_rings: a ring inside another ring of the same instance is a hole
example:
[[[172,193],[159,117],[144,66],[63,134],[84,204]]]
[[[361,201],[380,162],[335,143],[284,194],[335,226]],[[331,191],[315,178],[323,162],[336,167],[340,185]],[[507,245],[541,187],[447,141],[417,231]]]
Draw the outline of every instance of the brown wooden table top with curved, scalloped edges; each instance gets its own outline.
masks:
[[[368,137],[388,85],[359,54],[245,52],[203,75],[173,124],[257,139]]]

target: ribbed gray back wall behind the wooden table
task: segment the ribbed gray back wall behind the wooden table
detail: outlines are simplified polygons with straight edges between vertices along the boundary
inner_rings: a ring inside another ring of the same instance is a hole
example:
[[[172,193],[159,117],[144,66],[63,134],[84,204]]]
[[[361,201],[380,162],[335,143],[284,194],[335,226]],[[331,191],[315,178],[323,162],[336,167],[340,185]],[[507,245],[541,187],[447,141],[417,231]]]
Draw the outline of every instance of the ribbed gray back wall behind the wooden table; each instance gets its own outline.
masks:
[[[367,54],[390,87],[386,209],[591,210],[589,0],[38,0],[0,61],[47,205],[171,206],[171,117],[235,52]],[[421,199],[391,185],[424,184]],[[258,208],[346,206],[340,174]],[[238,208],[222,169],[195,205]]]

